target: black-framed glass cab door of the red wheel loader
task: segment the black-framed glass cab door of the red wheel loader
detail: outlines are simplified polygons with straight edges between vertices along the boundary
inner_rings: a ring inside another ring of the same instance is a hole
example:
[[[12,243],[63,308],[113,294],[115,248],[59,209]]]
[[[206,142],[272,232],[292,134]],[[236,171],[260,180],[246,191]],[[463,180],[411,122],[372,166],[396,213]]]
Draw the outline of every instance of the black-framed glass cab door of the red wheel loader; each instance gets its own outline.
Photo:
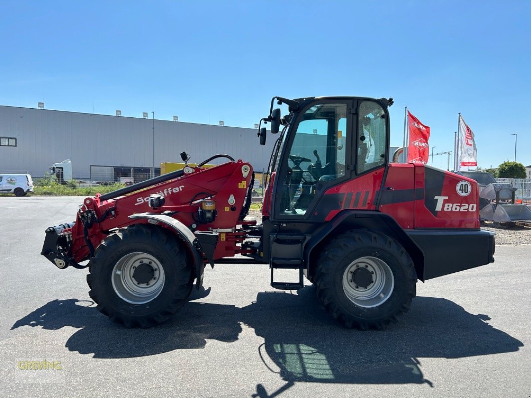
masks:
[[[296,116],[280,157],[273,220],[309,220],[324,192],[354,168],[354,101],[311,101]]]

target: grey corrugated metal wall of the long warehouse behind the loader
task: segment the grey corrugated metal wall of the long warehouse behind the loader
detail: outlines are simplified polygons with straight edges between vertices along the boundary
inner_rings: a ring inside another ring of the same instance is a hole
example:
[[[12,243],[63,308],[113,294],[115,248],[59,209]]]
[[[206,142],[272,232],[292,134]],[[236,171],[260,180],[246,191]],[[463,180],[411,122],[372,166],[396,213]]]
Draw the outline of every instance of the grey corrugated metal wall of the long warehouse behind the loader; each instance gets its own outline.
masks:
[[[155,120],[155,164],[180,162],[183,151],[195,163],[226,153],[261,171],[267,169],[278,136],[269,135],[267,145],[260,146],[256,133],[252,128]],[[153,166],[153,119],[0,106],[0,137],[17,139],[16,147],[0,146],[0,173],[41,177],[52,163],[65,159],[72,160],[75,178],[88,178],[90,165]]]

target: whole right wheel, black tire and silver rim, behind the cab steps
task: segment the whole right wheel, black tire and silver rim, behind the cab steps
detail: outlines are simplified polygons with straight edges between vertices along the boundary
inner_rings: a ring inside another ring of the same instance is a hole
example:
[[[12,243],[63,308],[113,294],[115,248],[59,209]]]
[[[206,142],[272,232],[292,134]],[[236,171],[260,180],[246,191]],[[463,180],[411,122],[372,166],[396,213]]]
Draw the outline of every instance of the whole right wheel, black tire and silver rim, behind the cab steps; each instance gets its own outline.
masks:
[[[416,296],[416,282],[407,251],[388,236],[364,230],[333,238],[319,257],[314,277],[327,312],[360,330],[382,330],[396,323]]]

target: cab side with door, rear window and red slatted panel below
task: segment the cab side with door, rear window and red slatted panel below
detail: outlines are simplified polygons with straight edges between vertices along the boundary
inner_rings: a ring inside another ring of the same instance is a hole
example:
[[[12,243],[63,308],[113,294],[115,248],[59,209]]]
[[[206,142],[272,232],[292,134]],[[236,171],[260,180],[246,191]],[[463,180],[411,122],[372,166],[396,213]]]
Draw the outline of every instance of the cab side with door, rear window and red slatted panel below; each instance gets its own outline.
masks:
[[[389,115],[371,98],[307,103],[286,137],[272,221],[328,221],[378,208],[389,157]]]

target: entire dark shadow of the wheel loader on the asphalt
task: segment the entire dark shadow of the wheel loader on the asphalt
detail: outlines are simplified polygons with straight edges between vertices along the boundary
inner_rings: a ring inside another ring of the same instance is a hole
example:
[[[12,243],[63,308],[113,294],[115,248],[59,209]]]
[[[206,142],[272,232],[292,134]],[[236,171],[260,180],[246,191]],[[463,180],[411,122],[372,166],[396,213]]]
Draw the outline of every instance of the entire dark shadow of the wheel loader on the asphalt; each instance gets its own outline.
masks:
[[[208,290],[203,292],[203,297]],[[101,316],[91,302],[54,300],[17,321],[21,326],[79,328],[70,351],[94,358],[131,358],[204,348],[207,340],[234,342],[244,327],[263,338],[264,366],[295,382],[428,383],[418,358],[462,358],[518,351],[523,343],[490,326],[486,315],[467,313],[450,300],[417,297],[412,310],[384,332],[348,330],[319,308],[313,287],[298,293],[261,292],[249,306],[190,302],[172,321],[150,329],[125,329]],[[127,342],[124,344],[124,342]],[[153,343],[155,342],[155,343]],[[258,382],[259,380],[257,380]]]

